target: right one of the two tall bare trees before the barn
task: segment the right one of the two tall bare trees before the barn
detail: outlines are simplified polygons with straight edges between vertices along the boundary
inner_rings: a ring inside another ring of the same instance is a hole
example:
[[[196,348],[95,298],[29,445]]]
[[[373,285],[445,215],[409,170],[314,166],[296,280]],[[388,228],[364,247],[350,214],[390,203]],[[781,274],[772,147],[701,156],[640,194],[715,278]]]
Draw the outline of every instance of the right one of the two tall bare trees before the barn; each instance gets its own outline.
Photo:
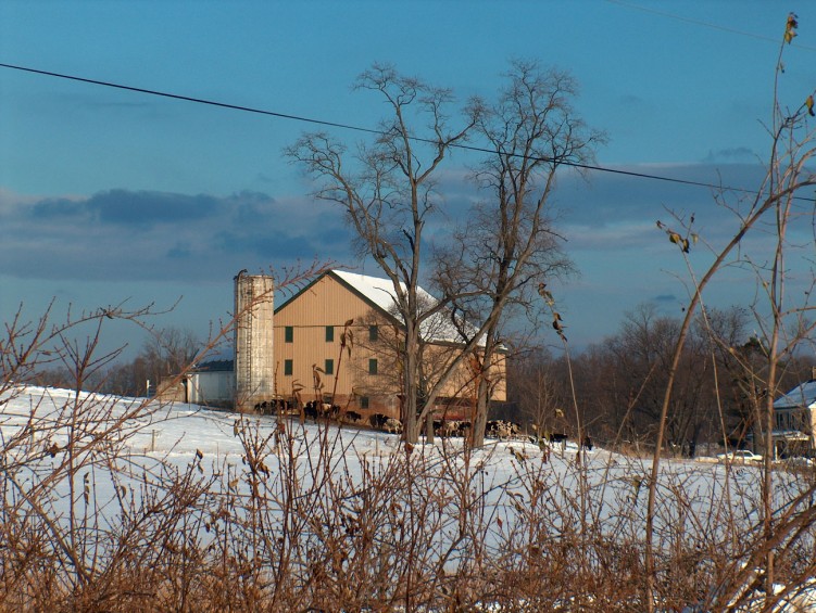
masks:
[[[535,62],[515,61],[495,104],[477,127],[491,153],[473,179],[486,194],[469,221],[437,253],[437,284],[463,312],[481,321],[474,444],[481,445],[487,420],[491,367],[502,349],[506,318],[530,310],[536,290],[570,271],[554,230],[551,195],[556,171],[594,158],[602,132],[589,129],[572,105],[575,80],[543,71]],[[467,330],[462,327],[464,337]]]

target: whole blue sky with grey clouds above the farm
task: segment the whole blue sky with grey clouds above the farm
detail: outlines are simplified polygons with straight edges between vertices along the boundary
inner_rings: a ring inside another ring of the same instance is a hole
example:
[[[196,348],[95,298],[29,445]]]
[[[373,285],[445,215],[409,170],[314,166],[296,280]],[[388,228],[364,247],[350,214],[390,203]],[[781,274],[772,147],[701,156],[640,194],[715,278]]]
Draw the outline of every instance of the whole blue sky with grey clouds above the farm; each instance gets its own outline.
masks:
[[[275,115],[0,67],[0,318],[52,301],[58,319],[152,304],[173,307],[159,328],[205,337],[241,269],[317,260],[377,276],[283,154],[304,131],[350,145],[365,133],[281,116],[376,127],[381,100],[351,87],[374,62],[464,102],[494,97],[512,59],[536,60],[578,82],[576,112],[608,137],[599,167],[756,189],[789,11],[800,27],[780,98],[798,107],[816,87],[816,8],[801,1],[2,2],[0,64]],[[440,175],[453,215],[474,197],[470,162],[454,154]],[[736,228],[708,188],[604,170],[564,173],[553,206],[578,271],[553,290],[578,350],[640,305],[681,316],[689,272],[655,221],[693,214],[713,245]],[[695,271],[711,261],[702,246],[690,255]],[[754,294],[732,271],[706,302]],[[126,355],[140,348],[142,330],[111,325]]]

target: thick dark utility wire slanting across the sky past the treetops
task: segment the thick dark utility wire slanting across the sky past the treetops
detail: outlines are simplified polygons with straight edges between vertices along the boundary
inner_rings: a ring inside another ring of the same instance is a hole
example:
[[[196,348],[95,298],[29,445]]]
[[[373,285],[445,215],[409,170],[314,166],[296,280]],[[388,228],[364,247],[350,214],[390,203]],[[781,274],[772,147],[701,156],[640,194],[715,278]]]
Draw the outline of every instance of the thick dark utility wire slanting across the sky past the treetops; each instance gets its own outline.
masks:
[[[277,112],[274,112],[274,111],[266,111],[266,110],[263,110],[263,108],[254,108],[252,106],[242,106],[242,105],[239,105],[239,104],[230,104],[230,103],[227,103],[227,102],[218,102],[218,101],[215,101],[215,100],[206,100],[206,99],[203,99],[203,98],[193,98],[193,97],[190,97],[190,95],[181,95],[181,94],[178,94],[178,93],[171,93],[171,92],[159,91],[159,90],[154,90],[154,89],[146,89],[146,88],[140,88],[140,87],[126,86],[126,85],[122,85],[122,84],[114,84],[114,82],[110,82],[110,81],[102,81],[102,80],[98,80],[98,79],[89,79],[89,78],[85,78],[85,77],[78,77],[78,76],[75,76],[75,75],[66,75],[66,74],[62,74],[62,73],[53,73],[53,72],[50,72],[50,71],[40,71],[40,69],[30,68],[30,67],[27,67],[27,66],[18,66],[18,65],[14,65],[14,64],[0,63],[0,67],[1,68],[10,68],[10,69],[14,69],[14,71],[22,71],[24,73],[32,73],[32,74],[36,74],[36,75],[43,75],[43,76],[47,76],[47,77],[55,77],[55,78],[60,78],[60,79],[67,79],[67,80],[78,81],[78,82],[84,82],[84,84],[98,85],[98,86],[110,87],[110,88],[114,88],[114,89],[122,89],[122,90],[125,90],[125,91],[133,91],[133,92],[137,92],[137,93],[145,93],[145,94],[148,94],[148,95],[156,95],[156,97],[161,97],[161,98],[170,98],[172,100],[181,100],[184,102],[193,102],[196,104],[206,104],[206,105],[210,105],[210,106],[217,106],[219,108],[230,108],[233,111],[242,111],[244,113],[255,113],[255,114],[259,114],[259,115],[266,115],[266,116],[271,116],[271,117],[278,117],[278,118],[281,118],[281,119],[291,119],[291,120],[294,120],[294,122],[304,122],[304,123],[307,123],[307,124],[314,124],[314,125],[318,125],[318,126],[326,126],[326,127],[331,127],[331,128],[342,128],[342,129],[347,129],[347,130],[353,130],[353,131],[357,131],[357,132],[365,132],[365,133],[377,135],[377,136],[385,136],[386,135],[385,131],[377,130],[377,129],[374,129],[374,128],[364,128],[364,127],[361,127],[361,126],[353,126],[353,125],[350,125],[350,124],[340,124],[340,123],[337,123],[337,122],[327,122],[327,120],[324,120],[324,119],[314,119],[314,118],[311,118],[311,117],[302,117],[302,116],[299,116],[299,115],[290,115],[290,114],[286,114],[286,113],[277,113]],[[425,142],[425,143],[436,144],[436,141],[434,141],[431,139],[426,139],[426,138],[420,138],[420,137],[411,137],[411,138],[412,138],[412,140],[417,141],[417,142]],[[489,154],[494,154],[495,153],[495,151],[490,150],[490,149],[475,146],[475,145],[461,144],[461,143],[453,144],[452,146],[455,148],[455,149],[461,149],[461,150],[466,150],[466,151],[474,151],[474,152],[478,152],[478,153],[489,153]],[[651,179],[651,180],[655,180],[655,181],[666,181],[666,182],[669,182],[669,183],[678,183],[678,184],[682,184],[682,186],[691,186],[691,187],[707,188],[707,189],[715,189],[715,190],[728,190],[728,191],[732,191],[732,192],[746,193],[746,194],[755,194],[756,193],[755,190],[749,190],[746,188],[731,188],[731,187],[727,187],[727,186],[720,186],[720,184],[715,184],[715,183],[707,183],[707,182],[704,182],[704,181],[692,181],[692,180],[688,180],[688,179],[677,179],[677,178],[674,178],[674,177],[665,177],[665,176],[661,176],[661,175],[651,175],[651,174],[648,174],[648,173],[636,173],[633,170],[622,170],[619,168],[610,168],[610,167],[605,167],[605,166],[594,166],[594,165],[590,165],[590,164],[580,164],[580,163],[570,162],[570,161],[555,161],[553,158],[547,158],[547,157],[540,157],[540,158],[536,158],[536,159],[541,161],[541,162],[557,162],[560,165],[563,165],[563,166],[570,166],[570,167],[574,167],[574,168],[581,168],[583,170],[595,170],[595,171],[599,171],[599,173],[610,173],[610,174],[613,174],[613,175],[622,175],[622,176],[633,177],[633,178],[638,178],[638,179]],[[807,201],[811,201],[813,199],[798,199],[798,200],[807,200]]]

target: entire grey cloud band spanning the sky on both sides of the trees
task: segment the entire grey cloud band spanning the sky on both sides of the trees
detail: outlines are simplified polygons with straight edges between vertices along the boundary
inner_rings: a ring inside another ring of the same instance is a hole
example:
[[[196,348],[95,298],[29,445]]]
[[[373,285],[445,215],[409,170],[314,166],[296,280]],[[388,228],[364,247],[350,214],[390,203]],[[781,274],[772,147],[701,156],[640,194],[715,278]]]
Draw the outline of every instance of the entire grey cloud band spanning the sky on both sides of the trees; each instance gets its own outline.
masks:
[[[751,165],[639,165],[617,169],[729,187],[761,184],[763,169]],[[426,227],[428,241],[450,235],[450,224],[467,218],[468,207],[487,197],[466,183],[465,170],[440,177],[444,213]],[[686,260],[655,221],[671,227],[689,222],[701,235],[690,257],[696,271],[711,263],[708,245],[717,247],[739,229],[739,217],[713,197],[713,188],[632,175],[592,171],[583,180],[574,170],[558,178],[553,204],[556,230],[580,278],[557,288],[558,302],[576,330],[587,312],[586,336],[594,325],[608,327],[620,314],[644,301],[673,309],[686,301]],[[732,206],[750,194],[726,194]],[[677,216],[680,220],[678,220]],[[806,217],[803,217],[806,220]],[[228,195],[109,190],[89,196],[17,196],[0,191],[0,261],[3,272],[42,286],[81,288],[88,281],[177,288],[226,283],[238,270],[279,270],[298,260],[359,264],[353,231],[336,205],[309,196],[264,192]],[[809,227],[804,230],[809,231]],[[773,253],[773,232],[745,241],[751,253]],[[802,244],[812,244],[800,241]],[[766,244],[767,243],[767,244]],[[808,253],[812,253],[808,252]],[[762,263],[759,263],[762,264]],[[795,269],[796,273],[809,267]],[[754,291],[750,271],[729,267],[718,281],[717,304],[748,304]],[[377,273],[376,267],[366,269]],[[737,273],[735,276],[735,273]],[[7,294],[18,295],[12,289]],[[77,290],[78,291],[78,290]],[[228,292],[228,288],[227,288]],[[677,297],[676,297],[677,296]],[[710,298],[711,299],[711,298]],[[602,303],[602,314],[590,315]],[[679,308],[679,307],[678,307]]]

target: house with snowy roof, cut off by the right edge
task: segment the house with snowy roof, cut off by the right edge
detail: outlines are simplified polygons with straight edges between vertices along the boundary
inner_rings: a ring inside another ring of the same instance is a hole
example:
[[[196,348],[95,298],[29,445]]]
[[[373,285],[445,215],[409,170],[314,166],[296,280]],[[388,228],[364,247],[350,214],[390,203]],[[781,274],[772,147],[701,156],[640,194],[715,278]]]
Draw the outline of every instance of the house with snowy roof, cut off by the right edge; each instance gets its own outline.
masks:
[[[816,375],[816,373],[814,373]],[[777,457],[801,456],[816,449],[816,376],[774,401],[774,446]]]

